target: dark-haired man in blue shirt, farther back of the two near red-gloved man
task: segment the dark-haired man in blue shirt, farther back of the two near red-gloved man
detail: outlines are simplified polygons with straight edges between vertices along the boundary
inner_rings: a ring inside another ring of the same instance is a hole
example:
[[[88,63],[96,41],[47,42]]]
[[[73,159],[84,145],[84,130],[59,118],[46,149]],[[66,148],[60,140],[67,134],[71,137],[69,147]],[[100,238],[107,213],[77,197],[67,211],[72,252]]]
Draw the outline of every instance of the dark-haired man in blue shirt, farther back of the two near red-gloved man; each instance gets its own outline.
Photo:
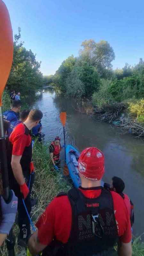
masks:
[[[19,118],[19,112],[21,108],[21,101],[20,100],[13,100],[12,101],[12,108],[7,110],[3,113],[3,118],[10,122],[15,122]]]

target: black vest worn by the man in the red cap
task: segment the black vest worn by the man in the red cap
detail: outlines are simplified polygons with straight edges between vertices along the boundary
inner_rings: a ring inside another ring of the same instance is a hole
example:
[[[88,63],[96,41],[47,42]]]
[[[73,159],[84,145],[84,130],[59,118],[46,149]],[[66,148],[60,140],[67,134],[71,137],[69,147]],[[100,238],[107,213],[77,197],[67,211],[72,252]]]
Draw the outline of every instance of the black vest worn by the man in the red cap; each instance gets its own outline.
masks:
[[[68,242],[52,241],[43,256],[117,255],[113,246],[118,240],[111,193],[102,187],[97,198],[87,198],[79,189],[68,191],[72,207],[72,227]],[[64,193],[58,196],[64,195]],[[66,194],[65,194],[66,195]],[[66,213],[67,214],[67,213]]]

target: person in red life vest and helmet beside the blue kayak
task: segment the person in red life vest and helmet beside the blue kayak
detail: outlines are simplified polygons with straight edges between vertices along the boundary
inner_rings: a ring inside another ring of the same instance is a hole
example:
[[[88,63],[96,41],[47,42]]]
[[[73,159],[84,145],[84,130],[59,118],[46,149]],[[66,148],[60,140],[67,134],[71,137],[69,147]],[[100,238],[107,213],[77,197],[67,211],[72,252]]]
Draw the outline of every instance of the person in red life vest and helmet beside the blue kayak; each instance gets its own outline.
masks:
[[[60,150],[62,148],[63,147],[60,145],[60,137],[57,136],[49,146],[49,153],[55,170],[59,170],[60,168]]]

